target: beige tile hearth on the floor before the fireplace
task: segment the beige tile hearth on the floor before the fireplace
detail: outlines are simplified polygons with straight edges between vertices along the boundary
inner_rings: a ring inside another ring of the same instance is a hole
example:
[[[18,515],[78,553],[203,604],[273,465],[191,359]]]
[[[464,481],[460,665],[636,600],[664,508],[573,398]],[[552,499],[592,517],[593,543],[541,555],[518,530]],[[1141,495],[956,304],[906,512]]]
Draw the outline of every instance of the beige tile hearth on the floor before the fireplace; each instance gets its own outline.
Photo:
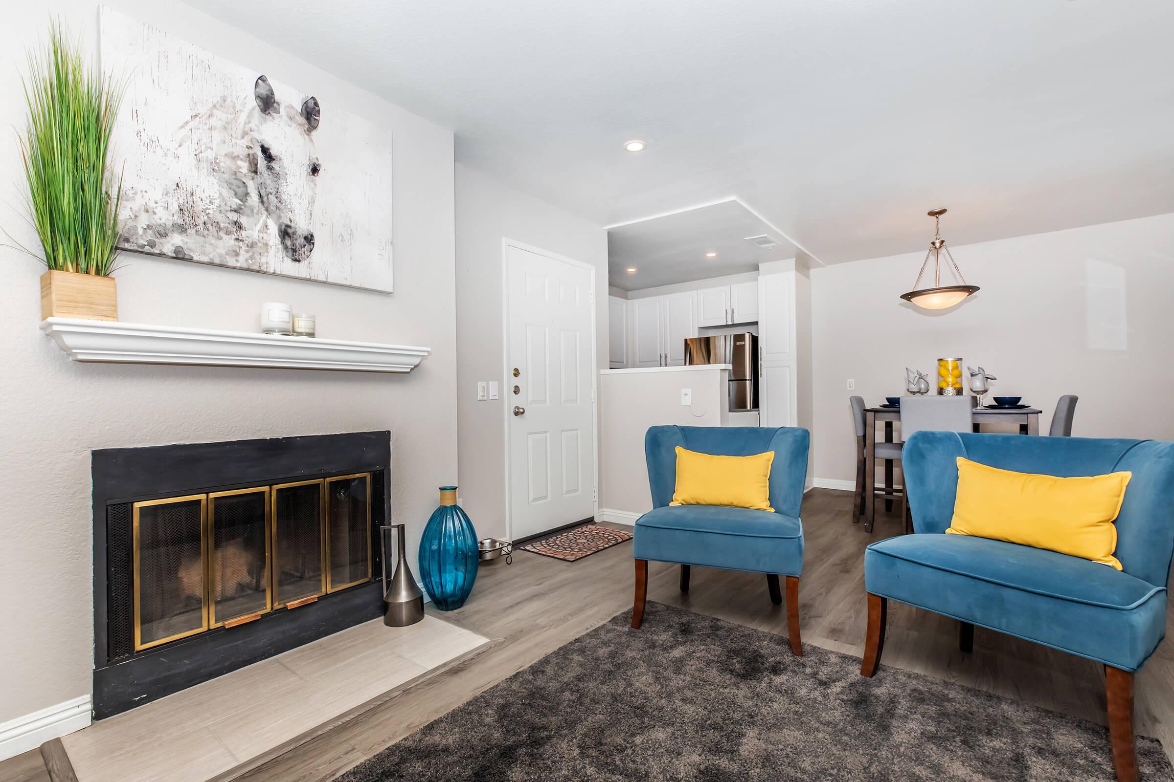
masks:
[[[101,720],[62,743],[79,782],[204,782],[487,642],[433,616],[402,628],[376,619]]]

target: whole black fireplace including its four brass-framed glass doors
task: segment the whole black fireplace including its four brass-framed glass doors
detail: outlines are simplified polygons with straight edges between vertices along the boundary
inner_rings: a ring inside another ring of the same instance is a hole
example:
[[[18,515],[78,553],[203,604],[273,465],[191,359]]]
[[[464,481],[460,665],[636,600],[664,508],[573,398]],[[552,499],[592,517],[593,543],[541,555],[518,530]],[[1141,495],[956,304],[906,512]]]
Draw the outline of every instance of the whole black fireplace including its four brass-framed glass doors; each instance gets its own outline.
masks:
[[[389,443],[94,451],[95,718],[378,617]]]

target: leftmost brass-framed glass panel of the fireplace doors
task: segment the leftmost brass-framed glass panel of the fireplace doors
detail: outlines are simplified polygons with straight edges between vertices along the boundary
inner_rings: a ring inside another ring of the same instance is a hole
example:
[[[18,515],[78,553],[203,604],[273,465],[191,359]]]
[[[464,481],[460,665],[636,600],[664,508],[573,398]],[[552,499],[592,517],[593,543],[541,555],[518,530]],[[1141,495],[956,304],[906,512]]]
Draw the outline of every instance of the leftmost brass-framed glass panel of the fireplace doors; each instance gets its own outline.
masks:
[[[136,502],[135,651],[208,628],[205,495]]]

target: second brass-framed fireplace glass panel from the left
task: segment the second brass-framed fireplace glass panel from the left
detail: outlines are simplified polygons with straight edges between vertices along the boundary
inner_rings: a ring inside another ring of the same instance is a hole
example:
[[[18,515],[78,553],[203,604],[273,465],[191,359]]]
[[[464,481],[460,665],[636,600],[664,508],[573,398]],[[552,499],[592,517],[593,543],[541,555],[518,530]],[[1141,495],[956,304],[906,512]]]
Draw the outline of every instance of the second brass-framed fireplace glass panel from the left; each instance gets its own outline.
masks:
[[[254,619],[271,607],[269,487],[208,495],[209,626]]]

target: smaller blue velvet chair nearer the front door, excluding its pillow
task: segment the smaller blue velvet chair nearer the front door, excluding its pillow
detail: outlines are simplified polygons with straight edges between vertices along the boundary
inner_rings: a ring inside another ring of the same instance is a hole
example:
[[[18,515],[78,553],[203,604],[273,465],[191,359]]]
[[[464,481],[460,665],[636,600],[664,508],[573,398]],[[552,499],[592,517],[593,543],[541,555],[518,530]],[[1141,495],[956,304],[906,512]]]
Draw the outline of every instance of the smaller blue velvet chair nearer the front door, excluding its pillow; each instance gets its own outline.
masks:
[[[770,465],[770,506],[669,505],[676,488],[676,447],[718,456],[775,451]],[[652,427],[645,435],[653,509],[636,521],[632,552],[636,559],[636,598],[632,626],[640,627],[648,593],[648,560],[681,565],[681,591],[689,591],[689,566],[728,567],[767,574],[775,605],[783,601],[778,576],[787,577],[787,624],[791,651],[799,641],[799,574],[803,523],[799,506],[807,481],[810,435],[807,429],[758,427]]]

